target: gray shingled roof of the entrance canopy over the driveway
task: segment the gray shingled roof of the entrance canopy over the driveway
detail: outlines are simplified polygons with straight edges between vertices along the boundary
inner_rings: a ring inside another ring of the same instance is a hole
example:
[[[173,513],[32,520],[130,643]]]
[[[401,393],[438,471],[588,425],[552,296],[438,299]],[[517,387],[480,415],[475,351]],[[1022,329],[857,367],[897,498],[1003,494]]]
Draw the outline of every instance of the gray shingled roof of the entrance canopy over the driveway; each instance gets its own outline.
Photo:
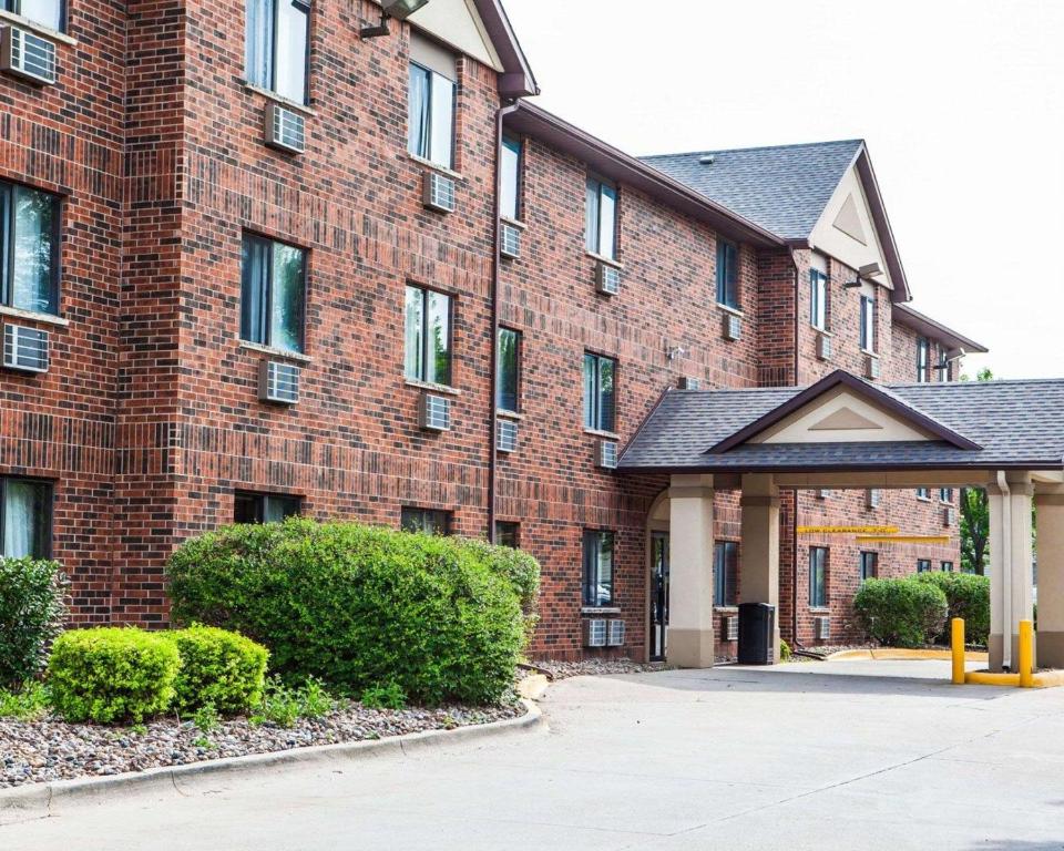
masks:
[[[621,470],[853,471],[1064,469],[1064,379],[877,386],[982,449],[945,441],[744,443],[707,450],[805,388],[669,390],[624,450]]]

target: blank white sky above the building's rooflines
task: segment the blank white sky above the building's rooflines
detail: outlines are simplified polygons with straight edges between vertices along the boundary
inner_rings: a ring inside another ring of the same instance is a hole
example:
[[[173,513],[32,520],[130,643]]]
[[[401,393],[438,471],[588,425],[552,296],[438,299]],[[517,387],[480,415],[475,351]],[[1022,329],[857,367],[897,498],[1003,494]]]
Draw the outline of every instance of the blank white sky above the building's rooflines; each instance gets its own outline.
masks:
[[[1064,376],[1062,0],[504,2],[536,102],[628,153],[864,139],[965,371]]]

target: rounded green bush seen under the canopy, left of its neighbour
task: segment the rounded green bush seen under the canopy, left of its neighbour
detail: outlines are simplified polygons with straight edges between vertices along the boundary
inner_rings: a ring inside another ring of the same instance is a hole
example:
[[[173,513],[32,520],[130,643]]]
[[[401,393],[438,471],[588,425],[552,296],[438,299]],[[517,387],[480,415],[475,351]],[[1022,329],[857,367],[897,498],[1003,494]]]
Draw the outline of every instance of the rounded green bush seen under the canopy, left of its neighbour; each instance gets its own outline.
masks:
[[[866,580],[853,597],[864,632],[889,647],[920,647],[942,632],[945,594],[915,576]]]

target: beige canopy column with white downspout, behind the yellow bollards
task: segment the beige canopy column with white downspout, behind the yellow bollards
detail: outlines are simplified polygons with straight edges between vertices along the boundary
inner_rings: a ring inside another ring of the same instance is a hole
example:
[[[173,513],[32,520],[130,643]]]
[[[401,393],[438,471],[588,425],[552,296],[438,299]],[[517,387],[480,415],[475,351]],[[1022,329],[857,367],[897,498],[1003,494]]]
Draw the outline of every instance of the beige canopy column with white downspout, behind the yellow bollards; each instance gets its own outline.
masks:
[[[1033,617],[1030,473],[999,473],[990,511],[990,668],[1016,669],[1020,622]],[[1009,640],[1005,640],[1009,636]]]

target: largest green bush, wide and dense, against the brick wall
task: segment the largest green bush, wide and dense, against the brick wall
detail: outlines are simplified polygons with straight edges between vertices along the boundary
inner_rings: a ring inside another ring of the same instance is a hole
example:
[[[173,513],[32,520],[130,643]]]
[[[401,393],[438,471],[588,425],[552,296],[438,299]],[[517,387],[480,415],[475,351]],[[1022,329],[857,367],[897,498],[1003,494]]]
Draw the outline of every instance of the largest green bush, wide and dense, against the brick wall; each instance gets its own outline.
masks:
[[[175,552],[173,613],[262,642],[289,681],[489,703],[512,684],[524,643],[514,586],[526,563],[510,552],[301,517],[229,526]]]

